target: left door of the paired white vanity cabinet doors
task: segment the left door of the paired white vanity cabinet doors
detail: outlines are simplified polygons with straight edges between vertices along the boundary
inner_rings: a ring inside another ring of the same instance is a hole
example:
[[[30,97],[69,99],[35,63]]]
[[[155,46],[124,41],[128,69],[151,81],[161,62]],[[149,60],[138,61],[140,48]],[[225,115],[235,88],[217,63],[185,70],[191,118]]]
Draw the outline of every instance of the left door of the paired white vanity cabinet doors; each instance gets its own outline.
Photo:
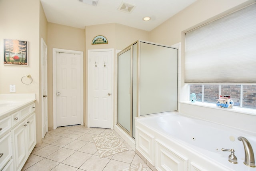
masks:
[[[18,171],[22,169],[23,164],[26,162],[26,122],[20,123],[12,130],[13,137],[13,158],[14,158],[14,170]]]

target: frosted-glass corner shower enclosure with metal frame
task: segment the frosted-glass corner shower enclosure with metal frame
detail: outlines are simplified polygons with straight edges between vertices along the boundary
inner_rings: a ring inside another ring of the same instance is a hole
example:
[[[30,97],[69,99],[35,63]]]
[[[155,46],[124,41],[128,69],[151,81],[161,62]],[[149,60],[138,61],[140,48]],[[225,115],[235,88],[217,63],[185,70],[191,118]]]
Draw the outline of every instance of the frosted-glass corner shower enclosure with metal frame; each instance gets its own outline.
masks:
[[[178,49],[138,40],[118,53],[118,126],[135,138],[135,117],[177,110]]]

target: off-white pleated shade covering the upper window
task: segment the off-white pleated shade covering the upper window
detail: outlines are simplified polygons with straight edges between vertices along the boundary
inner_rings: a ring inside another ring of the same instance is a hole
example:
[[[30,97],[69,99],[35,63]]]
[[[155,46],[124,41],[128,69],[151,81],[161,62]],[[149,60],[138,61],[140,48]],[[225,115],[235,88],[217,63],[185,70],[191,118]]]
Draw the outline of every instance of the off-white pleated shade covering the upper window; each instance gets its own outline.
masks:
[[[256,83],[256,4],[186,33],[186,83]]]

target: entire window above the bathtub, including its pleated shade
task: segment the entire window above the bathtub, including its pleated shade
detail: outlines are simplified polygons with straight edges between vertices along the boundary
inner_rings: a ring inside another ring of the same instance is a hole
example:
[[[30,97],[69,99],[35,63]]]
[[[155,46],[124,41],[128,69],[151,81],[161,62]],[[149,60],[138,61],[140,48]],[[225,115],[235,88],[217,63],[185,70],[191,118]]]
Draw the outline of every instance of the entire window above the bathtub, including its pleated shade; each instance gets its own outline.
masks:
[[[197,101],[256,109],[256,3],[186,32],[185,83]]]

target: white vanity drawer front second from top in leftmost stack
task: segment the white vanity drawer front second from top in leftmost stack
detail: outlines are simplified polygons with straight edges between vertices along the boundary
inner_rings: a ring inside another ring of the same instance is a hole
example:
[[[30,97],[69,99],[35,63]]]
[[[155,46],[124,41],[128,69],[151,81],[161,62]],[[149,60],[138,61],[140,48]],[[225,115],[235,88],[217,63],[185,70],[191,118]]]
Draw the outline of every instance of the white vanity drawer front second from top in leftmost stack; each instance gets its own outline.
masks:
[[[0,139],[0,170],[8,163],[12,158],[12,139],[11,133],[9,132]]]

